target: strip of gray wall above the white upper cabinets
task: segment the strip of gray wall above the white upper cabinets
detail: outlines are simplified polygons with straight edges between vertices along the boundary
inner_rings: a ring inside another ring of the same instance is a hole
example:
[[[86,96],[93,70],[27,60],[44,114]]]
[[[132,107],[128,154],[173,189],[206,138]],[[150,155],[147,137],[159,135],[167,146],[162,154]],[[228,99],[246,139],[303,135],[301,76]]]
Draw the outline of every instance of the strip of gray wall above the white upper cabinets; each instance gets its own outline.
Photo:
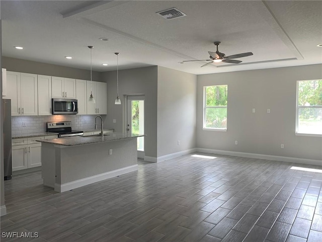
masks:
[[[66,77],[81,80],[91,80],[90,70],[82,70],[70,67],[51,65],[40,62],[26,61],[11,57],[2,57],[2,68],[11,72],[32,73],[38,75],[47,75],[54,77]],[[92,80],[101,82],[101,73],[92,71]]]

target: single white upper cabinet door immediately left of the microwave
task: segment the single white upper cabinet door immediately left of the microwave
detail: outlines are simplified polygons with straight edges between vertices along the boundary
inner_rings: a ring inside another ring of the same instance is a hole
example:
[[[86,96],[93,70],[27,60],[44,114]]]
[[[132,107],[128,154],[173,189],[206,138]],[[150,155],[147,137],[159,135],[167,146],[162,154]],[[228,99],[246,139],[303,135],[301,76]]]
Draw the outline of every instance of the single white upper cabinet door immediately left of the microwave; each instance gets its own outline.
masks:
[[[51,115],[51,77],[38,75],[38,115]]]

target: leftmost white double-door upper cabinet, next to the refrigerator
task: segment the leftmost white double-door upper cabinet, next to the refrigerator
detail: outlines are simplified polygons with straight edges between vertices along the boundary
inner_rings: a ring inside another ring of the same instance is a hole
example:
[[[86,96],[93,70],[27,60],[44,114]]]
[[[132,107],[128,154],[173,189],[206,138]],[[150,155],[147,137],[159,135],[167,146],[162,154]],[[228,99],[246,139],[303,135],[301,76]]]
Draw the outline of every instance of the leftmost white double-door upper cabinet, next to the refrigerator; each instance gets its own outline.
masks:
[[[7,72],[7,96],[11,99],[11,115],[38,115],[37,75]]]

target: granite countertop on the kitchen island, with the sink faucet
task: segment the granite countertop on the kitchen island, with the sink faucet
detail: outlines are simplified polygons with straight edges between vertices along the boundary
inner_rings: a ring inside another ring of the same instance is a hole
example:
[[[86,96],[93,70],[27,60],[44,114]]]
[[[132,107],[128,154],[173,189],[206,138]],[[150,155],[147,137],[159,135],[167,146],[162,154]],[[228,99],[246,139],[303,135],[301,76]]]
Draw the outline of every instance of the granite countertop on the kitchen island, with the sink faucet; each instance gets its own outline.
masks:
[[[78,136],[78,137],[67,137],[67,138],[59,138],[59,139],[50,139],[50,140],[37,140],[41,143],[49,143],[54,145],[62,145],[62,146],[78,146],[78,145],[89,145],[95,143],[103,143],[103,142],[111,142],[117,140],[125,140],[125,139],[133,139],[137,137],[142,137],[145,135],[128,135],[123,133],[112,133],[110,135],[102,136]]]

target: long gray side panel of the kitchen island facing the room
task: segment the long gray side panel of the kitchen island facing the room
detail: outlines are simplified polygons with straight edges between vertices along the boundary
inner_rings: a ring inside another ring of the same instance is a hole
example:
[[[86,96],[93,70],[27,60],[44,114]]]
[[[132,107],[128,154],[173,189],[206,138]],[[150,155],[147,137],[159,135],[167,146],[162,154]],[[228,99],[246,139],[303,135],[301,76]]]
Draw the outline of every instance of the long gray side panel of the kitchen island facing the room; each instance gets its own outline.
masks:
[[[112,149],[112,155],[109,155],[110,149]],[[118,170],[118,174],[137,170],[136,138],[63,147],[59,150],[59,154],[56,152],[57,177],[55,188],[66,184],[69,186],[65,186],[66,188],[70,188],[70,186],[78,187],[78,185],[89,180],[97,181],[103,177],[113,177],[115,170]],[[126,169],[126,167],[131,168]],[[111,176],[108,174],[111,174]],[[57,188],[57,190],[59,189]],[[61,191],[66,190],[62,189]]]

